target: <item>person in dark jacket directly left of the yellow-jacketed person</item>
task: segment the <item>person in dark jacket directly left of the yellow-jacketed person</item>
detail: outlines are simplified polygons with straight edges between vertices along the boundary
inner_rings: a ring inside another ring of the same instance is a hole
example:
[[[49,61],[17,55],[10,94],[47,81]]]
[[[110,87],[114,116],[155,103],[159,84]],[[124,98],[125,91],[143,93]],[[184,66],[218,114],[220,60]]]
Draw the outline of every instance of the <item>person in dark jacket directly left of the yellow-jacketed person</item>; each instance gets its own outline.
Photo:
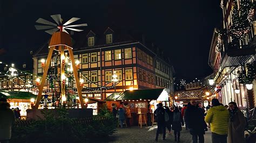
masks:
[[[190,134],[192,135],[193,143],[204,142],[204,134],[207,131],[207,124],[205,123],[204,116],[199,110],[198,105],[195,100],[191,100],[187,104],[187,109],[185,111],[185,121],[187,127],[190,129]]]

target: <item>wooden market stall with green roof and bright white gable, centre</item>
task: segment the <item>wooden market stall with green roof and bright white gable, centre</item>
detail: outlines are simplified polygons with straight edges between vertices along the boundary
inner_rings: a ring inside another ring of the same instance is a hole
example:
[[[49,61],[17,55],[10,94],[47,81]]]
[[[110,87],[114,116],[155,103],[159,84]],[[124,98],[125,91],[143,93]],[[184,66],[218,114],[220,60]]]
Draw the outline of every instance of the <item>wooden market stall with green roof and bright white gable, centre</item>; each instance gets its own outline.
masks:
[[[129,106],[131,110],[131,123],[138,125],[138,114],[146,114],[146,121],[151,124],[156,105],[160,102],[169,101],[169,94],[165,89],[143,89],[143,90],[126,90],[124,92],[116,92],[105,99],[107,108],[112,110],[112,106],[119,107]],[[143,119],[144,120],[144,119]]]

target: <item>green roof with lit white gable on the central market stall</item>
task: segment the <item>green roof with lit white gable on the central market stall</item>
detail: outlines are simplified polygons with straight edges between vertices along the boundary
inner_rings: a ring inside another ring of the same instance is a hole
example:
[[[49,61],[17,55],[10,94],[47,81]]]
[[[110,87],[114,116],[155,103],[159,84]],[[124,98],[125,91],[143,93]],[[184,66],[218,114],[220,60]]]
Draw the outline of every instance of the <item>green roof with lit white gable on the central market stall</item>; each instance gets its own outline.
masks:
[[[113,93],[105,101],[123,101],[123,100],[157,100],[168,101],[168,92],[165,89],[143,89],[126,90],[122,93]]]

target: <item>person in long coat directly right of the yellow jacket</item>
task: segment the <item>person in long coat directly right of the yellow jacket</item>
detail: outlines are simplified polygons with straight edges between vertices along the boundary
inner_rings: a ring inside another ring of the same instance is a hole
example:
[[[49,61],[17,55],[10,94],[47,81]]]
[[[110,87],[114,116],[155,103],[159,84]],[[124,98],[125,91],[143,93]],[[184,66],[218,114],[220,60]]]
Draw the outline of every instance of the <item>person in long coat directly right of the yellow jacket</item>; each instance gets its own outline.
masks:
[[[245,143],[244,132],[246,120],[244,114],[238,109],[237,103],[228,104],[230,112],[230,124],[228,126],[228,143]]]

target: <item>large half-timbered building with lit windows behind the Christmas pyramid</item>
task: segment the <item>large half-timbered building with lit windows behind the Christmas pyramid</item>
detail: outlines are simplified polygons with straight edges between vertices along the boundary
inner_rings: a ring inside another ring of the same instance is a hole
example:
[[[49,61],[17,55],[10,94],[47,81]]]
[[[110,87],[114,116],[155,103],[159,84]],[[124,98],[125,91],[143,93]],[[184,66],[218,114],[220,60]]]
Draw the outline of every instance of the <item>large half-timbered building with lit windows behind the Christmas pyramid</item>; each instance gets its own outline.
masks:
[[[102,34],[89,31],[84,39],[74,45],[73,53],[79,61],[79,78],[84,81],[84,96],[105,99],[114,91],[153,88],[166,88],[173,95],[174,70],[170,63],[159,58],[142,42],[123,38],[109,27]],[[46,55],[47,46],[34,55],[33,74],[42,75],[41,59],[45,59]],[[51,68],[58,67],[58,59],[52,57]],[[112,82],[114,73],[117,83]],[[74,82],[71,84],[76,87]]]

